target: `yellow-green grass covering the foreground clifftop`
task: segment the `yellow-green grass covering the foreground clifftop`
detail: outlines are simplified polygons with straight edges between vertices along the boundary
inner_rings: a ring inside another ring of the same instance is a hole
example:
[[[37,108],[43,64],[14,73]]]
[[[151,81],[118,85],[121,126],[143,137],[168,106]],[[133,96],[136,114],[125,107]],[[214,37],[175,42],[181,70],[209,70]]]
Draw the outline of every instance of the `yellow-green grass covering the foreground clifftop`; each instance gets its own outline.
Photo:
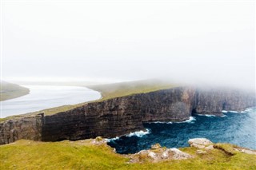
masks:
[[[168,160],[159,163],[129,163],[129,156],[113,152],[106,144],[92,140],[35,142],[18,140],[0,146],[0,169],[255,169],[256,155],[234,151],[234,145],[218,144],[206,154],[197,148],[180,148],[193,155],[189,160]],[[226,154],[230,149],[234,155]]]

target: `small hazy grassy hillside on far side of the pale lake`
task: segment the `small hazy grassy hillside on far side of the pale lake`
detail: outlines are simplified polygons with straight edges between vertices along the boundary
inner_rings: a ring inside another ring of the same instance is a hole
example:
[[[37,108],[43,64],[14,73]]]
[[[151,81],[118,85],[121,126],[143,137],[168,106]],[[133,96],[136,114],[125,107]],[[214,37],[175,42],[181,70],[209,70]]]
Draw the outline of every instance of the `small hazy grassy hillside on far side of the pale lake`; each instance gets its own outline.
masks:
[[[6,101],[8,99],[21,97],[28,93],[30,93],[30,89],[27,89],[20,85],[8,83],[6,81],[1,81],[0,101]]]

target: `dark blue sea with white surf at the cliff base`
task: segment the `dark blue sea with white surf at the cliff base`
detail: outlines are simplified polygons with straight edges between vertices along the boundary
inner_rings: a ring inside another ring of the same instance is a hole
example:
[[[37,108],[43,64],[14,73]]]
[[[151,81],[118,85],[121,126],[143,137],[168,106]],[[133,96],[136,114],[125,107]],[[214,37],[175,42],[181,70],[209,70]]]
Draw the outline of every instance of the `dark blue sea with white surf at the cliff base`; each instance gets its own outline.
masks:
[[[182,123],[151,123],[144,127],[149,132],[137,132],[116,139],[108,144],[119,153],[134,153],[159,143],[167,148],[189,146],[187,141],[195,137],[205,137],[214,143],[237,144],[256,149],[256,109],[246,113],[224,113],[224,117],[198,116]]]

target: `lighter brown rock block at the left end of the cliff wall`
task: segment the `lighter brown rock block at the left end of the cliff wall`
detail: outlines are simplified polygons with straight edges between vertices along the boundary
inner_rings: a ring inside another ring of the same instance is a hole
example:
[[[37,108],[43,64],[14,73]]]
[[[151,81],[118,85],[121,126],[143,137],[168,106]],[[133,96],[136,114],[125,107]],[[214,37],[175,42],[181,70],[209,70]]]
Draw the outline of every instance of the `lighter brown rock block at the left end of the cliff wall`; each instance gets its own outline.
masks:
[[[15,140],[42,140],[43,114],[21,117],[0,123],[0,144]]]

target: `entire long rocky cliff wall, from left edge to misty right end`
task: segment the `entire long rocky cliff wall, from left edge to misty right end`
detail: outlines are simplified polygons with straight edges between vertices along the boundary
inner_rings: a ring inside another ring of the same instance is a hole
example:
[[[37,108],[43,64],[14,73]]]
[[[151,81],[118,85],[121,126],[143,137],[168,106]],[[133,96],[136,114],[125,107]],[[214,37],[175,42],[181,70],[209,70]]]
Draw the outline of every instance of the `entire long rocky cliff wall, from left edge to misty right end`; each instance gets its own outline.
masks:
[[[222,114],[255,106],[255,96],[238,90],[178,87],[94,102],[43,117],[0,123],[0,144],[18,139],[57,141],[114,137],[143,129],[143,122],[184,121],[192,112]]]

